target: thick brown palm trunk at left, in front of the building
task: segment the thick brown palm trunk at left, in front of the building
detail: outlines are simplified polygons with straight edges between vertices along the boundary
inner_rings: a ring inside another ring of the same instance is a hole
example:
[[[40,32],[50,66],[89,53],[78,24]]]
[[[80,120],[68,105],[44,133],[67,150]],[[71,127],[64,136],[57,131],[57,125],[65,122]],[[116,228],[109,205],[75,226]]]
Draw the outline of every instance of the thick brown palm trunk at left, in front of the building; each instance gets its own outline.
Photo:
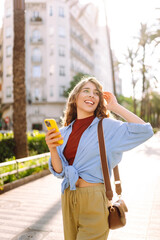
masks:
[[[13,132],[16,158],[28,156],[25,93],[25,4],[14,0]]]

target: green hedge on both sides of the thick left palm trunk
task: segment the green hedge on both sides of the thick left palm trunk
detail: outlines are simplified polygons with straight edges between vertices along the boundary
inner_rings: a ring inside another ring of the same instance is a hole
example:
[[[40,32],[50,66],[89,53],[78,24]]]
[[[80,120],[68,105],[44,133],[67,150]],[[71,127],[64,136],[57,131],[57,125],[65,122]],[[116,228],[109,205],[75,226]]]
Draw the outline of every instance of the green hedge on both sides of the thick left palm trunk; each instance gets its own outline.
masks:
[[[28,150],[29,156],[49,152],[48,146],[45,142],[45,134],[34,131],[28,133]],[[15,159],[15,142],[14,138],[3,138],[0,141],[0,162]]]

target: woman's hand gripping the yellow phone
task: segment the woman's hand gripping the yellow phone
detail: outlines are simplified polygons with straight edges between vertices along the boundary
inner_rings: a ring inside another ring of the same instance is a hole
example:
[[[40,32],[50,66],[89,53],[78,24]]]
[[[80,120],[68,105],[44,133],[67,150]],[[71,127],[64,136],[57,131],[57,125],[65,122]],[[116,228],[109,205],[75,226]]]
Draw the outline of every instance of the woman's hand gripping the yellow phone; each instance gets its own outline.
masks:
[[[56,147],[62,145],[59,144],[57,141],[62,140],[63,137],[59,137],[61,135],[60,132],[55,132],[55,129],[51,129],[46,133],[46,144],[48,145],[49,150],[54,150]]]

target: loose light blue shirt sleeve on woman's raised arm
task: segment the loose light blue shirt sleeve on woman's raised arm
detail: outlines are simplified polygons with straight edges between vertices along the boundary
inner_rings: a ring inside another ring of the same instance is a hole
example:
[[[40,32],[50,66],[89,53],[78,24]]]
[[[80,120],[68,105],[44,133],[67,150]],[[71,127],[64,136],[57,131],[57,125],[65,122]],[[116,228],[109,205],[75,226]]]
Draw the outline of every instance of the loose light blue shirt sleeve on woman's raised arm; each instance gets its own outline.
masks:
[[[111,168],[122,159],[122,154],[144,143],[153,136],[150,123],[138,124],[111,120],[109,129],[112,135],[107,139],[108,155]]]

